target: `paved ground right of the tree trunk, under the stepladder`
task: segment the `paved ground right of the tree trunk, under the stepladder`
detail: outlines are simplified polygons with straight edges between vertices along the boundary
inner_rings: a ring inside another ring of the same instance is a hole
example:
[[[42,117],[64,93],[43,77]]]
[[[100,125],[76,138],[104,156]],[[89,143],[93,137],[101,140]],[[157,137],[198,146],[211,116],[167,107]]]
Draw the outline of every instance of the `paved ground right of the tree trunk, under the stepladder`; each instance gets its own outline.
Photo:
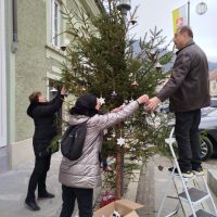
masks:
[[[162,166],[163,170],[158,169],[158,166]],[[171,162],[164,156],[156,155],[149,161],[146,165],[143,165],[141,169],[140,181],[138,186],[137,202],[144,204],[144,207],[138,210],[139,216],[141,217],[155,217],[157,210],[159,209],[162,199],[164,196],[165,189],[168,183],[169,173],[168,167],[171,167]],[[203,164],[205,171],[207,173],[209,165],[206,163]],[[182,184],[180,178],[176,178],[176,186],[179,193],[182,191]],[[195,183],[199,184],[201,190],[204,190],[204,184],[201,178],[195,179]],[[190,182],[193,187],[193,182]],[[169,189],[170,196],[177,196],[175,186],[171,183]],[[217,205],[217,199],[213,195],[215,203]],[[166,199],[166,203],[163,208],[161,216],[166,216],[176,208],[178,200],[176,199]],[[213,210],[210,201],[203,203],[204,208],[209,212]],[[191,210],[188,204],[183,205],[187,216],[191,215]],[[184,217],[184,214],[181,208],[179,208],[177,217]]]

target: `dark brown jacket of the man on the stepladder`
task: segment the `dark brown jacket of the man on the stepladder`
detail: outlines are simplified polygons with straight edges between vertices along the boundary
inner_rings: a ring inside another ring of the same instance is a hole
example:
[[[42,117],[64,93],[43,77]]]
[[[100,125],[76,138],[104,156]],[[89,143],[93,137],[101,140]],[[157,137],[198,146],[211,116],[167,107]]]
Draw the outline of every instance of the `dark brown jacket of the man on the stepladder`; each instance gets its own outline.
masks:
[[[157,98],[162,102],[169,98],[171,112],[188,112],[210,104],[207,59],[193,40],[177,52],[173,74]]]

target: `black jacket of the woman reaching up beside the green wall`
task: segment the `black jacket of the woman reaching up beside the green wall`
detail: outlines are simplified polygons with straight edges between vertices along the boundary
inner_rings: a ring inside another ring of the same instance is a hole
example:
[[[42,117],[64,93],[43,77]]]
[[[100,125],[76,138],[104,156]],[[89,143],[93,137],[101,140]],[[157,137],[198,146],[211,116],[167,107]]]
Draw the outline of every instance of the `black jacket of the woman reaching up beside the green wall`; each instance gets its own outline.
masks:
[[[36,156],[44,156],[50,153],[48,146],[58,133],[55,113],[61,108],[63,99],[64,95],[59,92],[52,101],[34,102],[27,108],[27,114],[34,119],[35,124],[33,144]]]

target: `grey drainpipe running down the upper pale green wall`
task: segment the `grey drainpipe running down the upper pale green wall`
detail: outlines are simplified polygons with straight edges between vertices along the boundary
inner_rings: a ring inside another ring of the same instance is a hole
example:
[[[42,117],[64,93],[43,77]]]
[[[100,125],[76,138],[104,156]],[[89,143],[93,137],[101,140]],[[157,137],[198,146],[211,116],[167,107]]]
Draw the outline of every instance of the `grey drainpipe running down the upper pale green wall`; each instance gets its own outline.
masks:
[[[15,53],[18,49],[18,34],[17,34],[17,0],[12,0],[13,11],[13,43],[12,52]]]

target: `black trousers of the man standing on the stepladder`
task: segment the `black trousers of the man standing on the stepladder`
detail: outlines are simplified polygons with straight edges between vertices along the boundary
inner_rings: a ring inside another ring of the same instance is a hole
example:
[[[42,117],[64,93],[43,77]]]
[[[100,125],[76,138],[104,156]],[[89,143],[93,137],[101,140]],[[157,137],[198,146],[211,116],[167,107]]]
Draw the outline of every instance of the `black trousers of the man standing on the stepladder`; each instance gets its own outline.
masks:
[[[201,166],[199,125],[201,110],[175,113],[175,135],[178,143],[179,166],[182,171]]]

